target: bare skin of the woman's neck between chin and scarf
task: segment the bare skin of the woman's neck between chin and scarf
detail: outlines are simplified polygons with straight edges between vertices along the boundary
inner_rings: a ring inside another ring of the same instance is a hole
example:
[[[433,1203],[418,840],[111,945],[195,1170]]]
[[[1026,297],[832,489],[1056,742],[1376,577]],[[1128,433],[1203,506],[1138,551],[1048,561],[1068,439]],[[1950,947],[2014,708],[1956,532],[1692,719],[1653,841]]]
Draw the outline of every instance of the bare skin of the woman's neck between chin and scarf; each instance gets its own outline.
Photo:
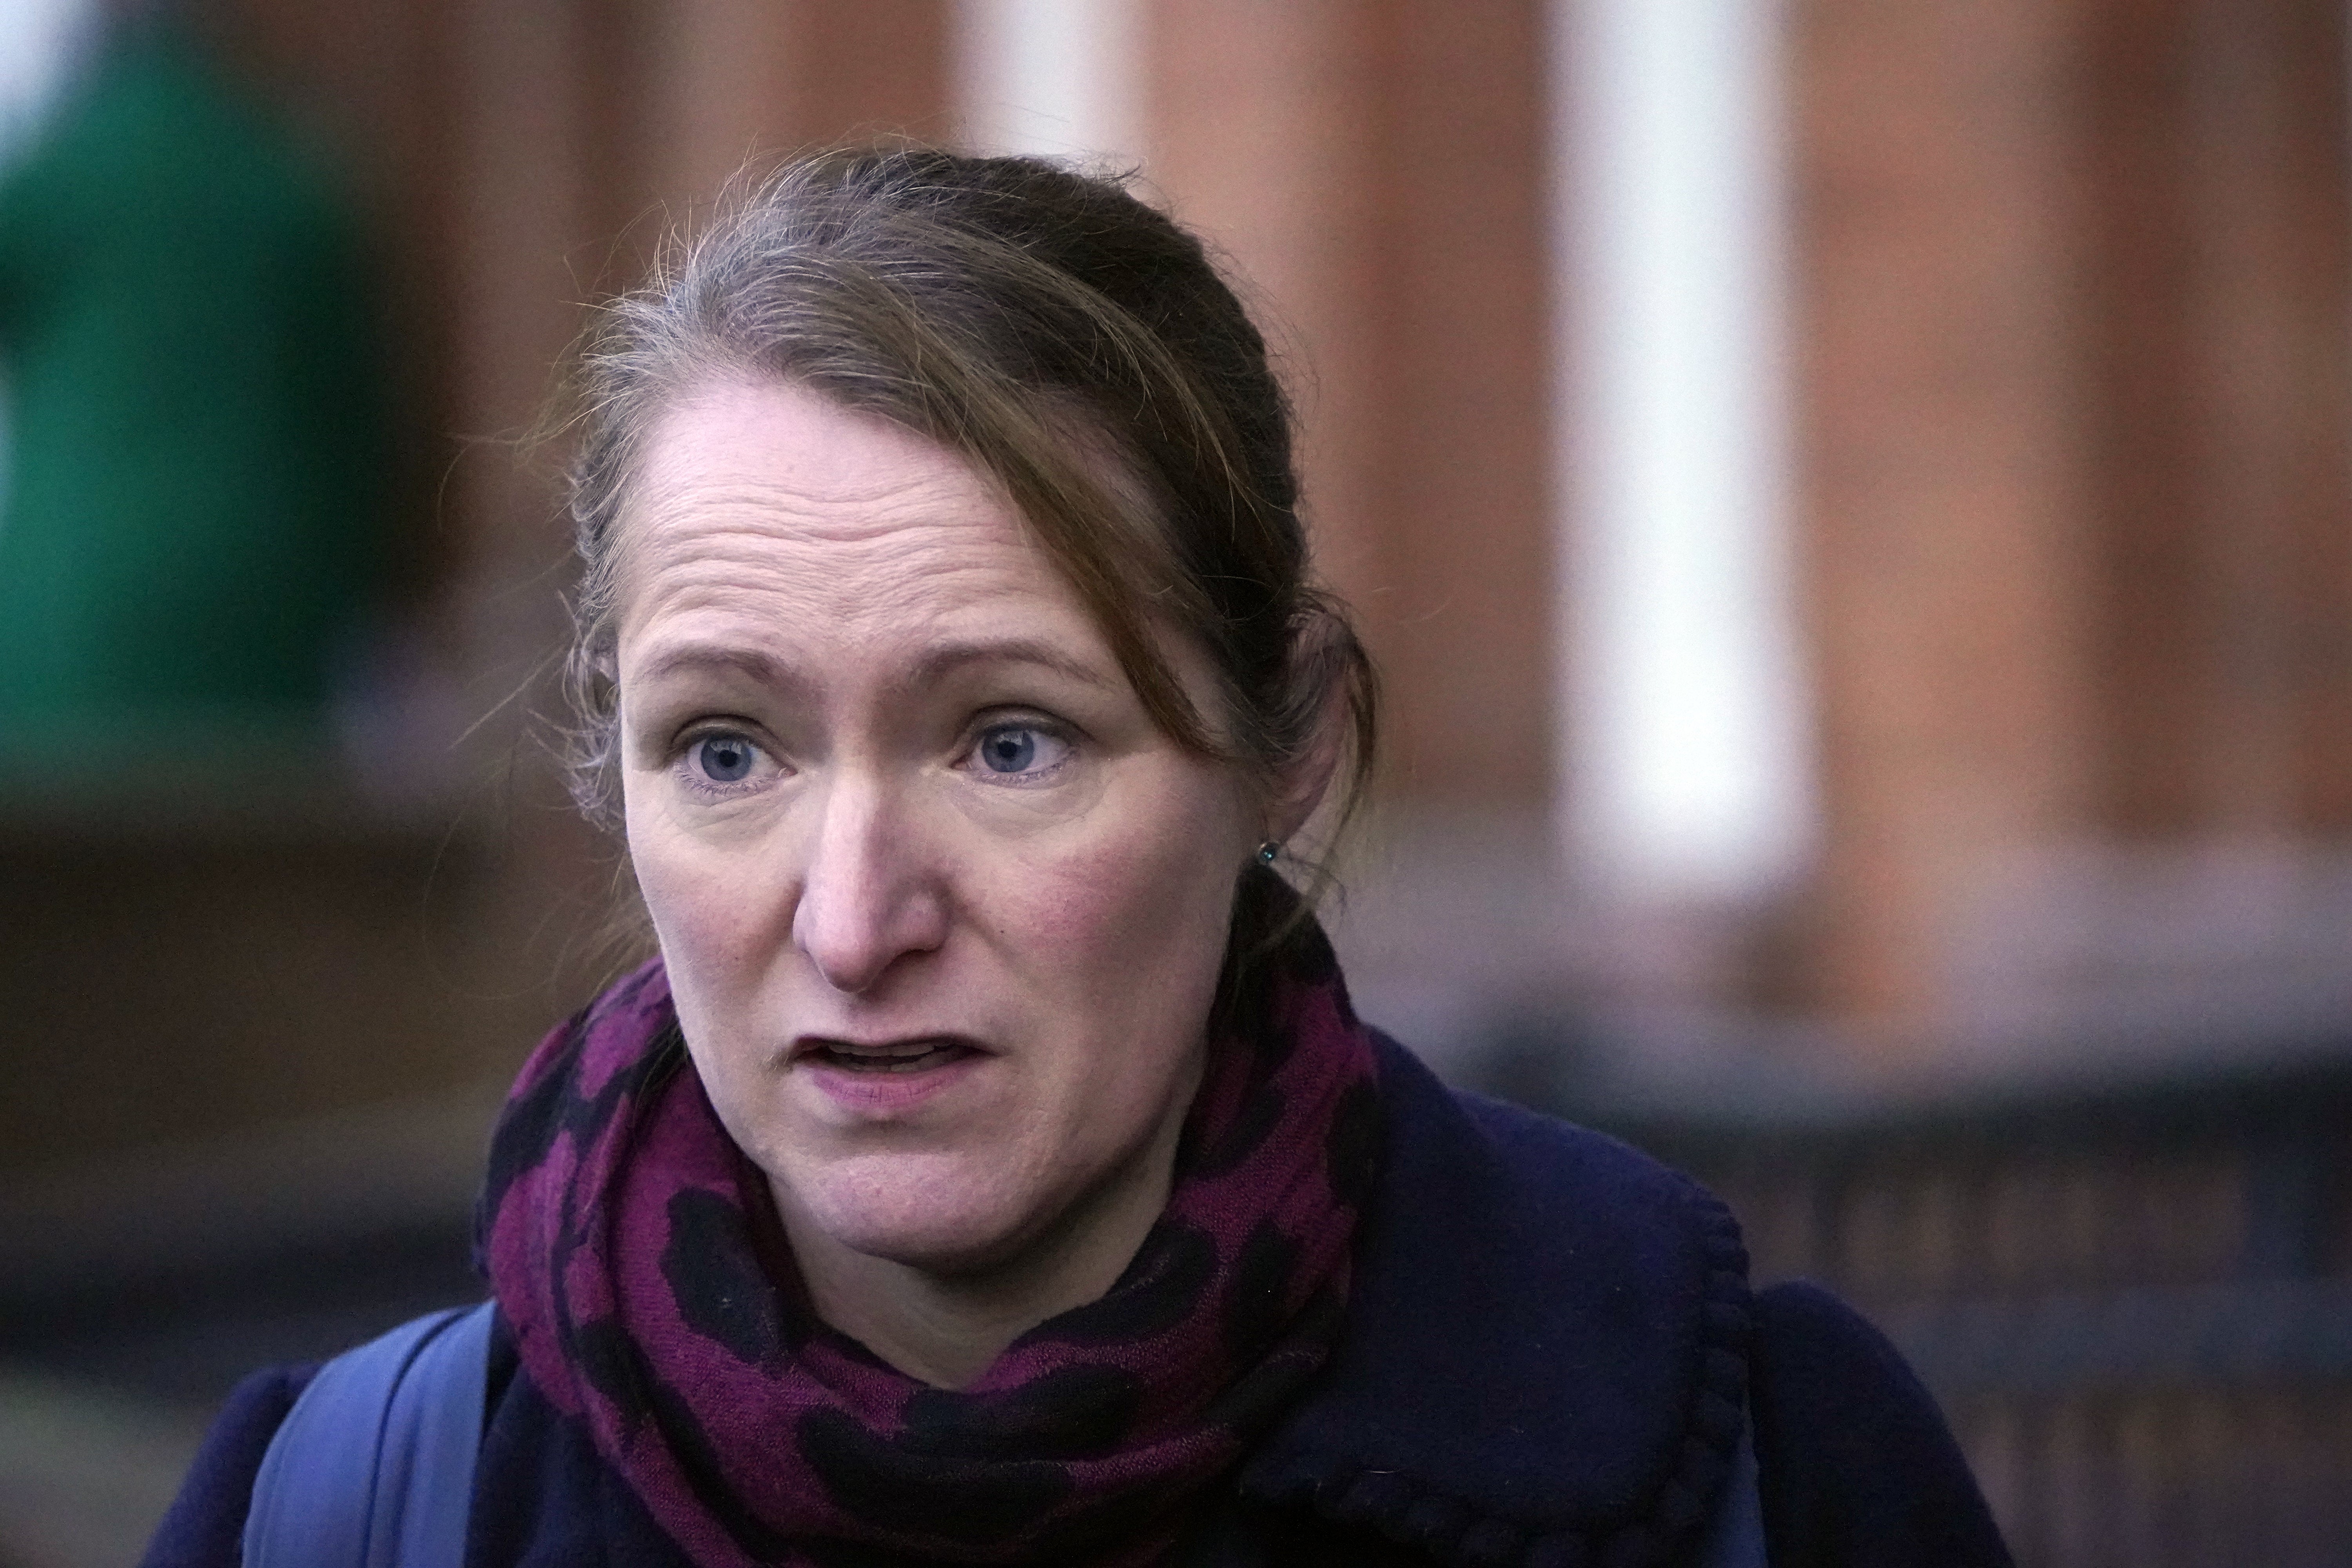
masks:
[[[1023,1333],[1101,1300],[1120,1281],[1167,1208],[1190,1100],[1178,1095],[1150,1143],[1040,1237],[976,1269],[934,1269],[842,1246],[769,1178],[816,1316],[908,1378],[943,1389],[969,1385]]]

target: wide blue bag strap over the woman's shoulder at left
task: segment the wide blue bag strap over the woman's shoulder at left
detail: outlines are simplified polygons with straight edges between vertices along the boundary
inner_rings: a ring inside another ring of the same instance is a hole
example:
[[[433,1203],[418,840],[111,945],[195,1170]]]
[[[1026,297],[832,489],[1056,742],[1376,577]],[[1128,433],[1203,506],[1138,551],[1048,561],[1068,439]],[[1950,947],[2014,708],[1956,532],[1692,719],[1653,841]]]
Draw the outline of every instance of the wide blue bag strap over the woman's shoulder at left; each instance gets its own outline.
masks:
[[[318,1368],[254,1476],[245,1568],[461,1568],[492,1305],[407,1321]]]

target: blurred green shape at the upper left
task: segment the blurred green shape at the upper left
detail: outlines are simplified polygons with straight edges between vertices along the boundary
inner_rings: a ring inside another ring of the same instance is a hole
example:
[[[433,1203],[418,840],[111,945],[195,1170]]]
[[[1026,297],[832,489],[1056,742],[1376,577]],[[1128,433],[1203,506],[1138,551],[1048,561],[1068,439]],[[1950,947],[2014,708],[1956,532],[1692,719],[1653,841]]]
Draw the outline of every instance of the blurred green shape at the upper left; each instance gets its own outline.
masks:
[[[379,555],[369,310],[322,174],[118,38],[0,181],[0,755],[320,724]]]

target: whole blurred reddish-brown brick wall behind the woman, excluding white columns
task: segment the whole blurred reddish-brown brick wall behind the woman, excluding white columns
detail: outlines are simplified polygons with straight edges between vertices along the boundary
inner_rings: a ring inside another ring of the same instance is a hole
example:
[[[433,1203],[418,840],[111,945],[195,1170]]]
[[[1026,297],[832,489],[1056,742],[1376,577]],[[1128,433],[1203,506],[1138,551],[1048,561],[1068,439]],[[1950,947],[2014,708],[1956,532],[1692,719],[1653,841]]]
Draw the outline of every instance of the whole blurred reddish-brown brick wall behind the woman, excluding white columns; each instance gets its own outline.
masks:
[[[1392,1020],[1442,1051],[1639,992],[1675,1020],[1771,1009],[1875,1070],[2352,1016],[2340,7],[1788,9],[1823,844],[1780,898],[1679,926],[1595,903],[1555,835],[1562,14],[1143,9],[1148,188],[1275,327],[1312,527],[1390,679],[1388,858],[1350,954],[1395,980]],[[743,158],[957,134],[946,0],[193,16],[367,212],[400,604],[452,736],[482,724],[440,741],[430,823],[310,802],[256,844],[235,790],[160,844],[87,811],[0,823],[19,886],[56,889],[0,940],[0,980],[40,997],[7,1037],[19,1164],[496,1081],[593,985],[614,851],[527,722],[553,712],[567,541],[517,437],[586,301]]]

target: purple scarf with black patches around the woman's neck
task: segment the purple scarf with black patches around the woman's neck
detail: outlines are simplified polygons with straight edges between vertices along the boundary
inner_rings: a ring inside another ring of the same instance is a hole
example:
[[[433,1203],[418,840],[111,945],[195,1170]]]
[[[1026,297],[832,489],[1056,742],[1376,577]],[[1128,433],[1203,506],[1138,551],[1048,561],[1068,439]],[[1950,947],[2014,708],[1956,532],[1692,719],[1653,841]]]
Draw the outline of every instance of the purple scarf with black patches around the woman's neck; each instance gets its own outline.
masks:
[[[492,1147],[482,1251],[527,1375],[706,1568],[1162,1559],[1324,1363],[1376,1159],[1322,933],[1261,969],[1134,1262],[948,1392],[816,1321],[647,964],[548,1034]]]

